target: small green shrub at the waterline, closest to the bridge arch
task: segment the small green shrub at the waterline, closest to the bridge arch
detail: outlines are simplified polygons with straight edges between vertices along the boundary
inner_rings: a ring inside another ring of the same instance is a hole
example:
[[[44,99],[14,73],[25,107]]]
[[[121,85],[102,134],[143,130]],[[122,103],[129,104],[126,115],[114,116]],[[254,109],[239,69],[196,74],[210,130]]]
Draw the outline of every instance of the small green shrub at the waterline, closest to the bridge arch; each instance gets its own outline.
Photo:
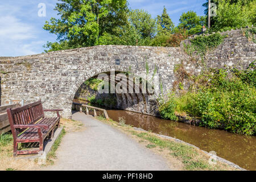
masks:
[[[177,120],[175,115],[175,101],[174,94],[171,94],[167,101],[160,100],[159,101],[159,113],[163,119],[170,119],[173,121]]]

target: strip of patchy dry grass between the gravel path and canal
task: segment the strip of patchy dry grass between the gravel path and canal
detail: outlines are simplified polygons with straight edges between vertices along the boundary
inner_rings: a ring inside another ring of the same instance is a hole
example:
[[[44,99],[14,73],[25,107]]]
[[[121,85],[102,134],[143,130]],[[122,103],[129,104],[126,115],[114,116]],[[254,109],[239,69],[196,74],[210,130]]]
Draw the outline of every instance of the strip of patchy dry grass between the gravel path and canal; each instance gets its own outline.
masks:
[[[176,142],[171,139],[164,139],[158,135],[150,132],[137,131],[129,125],[119,125],[119,123],[110,119],[106,121],[104,117],[98,117],[99,120],[109,123],[117,127],[119,130],[133,135],[139,143],[146,144],[147,148],[151,150],[168,154],[167,158],[174,158],[181,163],[182,170],[198,171],[198,170],[237,170],[236,168],[229,167],[228,164],[217,162],[216,164],[209,164],[210,156],[203,151],[189,146],[185,143]]]

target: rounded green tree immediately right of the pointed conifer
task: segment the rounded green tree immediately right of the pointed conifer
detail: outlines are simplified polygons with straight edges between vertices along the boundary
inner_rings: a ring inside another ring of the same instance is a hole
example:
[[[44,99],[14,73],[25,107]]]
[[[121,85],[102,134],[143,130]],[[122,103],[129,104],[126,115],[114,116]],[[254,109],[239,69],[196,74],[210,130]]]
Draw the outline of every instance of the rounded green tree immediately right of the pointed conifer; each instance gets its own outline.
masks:
[[[189,35],[193,35],[201,32],[205,22],[205,16],[197,16],[194,11],[188,11],[180,16],[178,28],[185,29]]]

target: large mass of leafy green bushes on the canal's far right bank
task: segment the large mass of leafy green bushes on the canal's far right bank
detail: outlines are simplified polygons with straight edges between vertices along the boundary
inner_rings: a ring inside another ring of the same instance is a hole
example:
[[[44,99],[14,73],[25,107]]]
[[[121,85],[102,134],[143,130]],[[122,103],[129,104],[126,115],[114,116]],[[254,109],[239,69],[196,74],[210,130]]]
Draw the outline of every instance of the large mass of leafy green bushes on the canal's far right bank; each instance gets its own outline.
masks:
[[[211,71],[204,78],[207,83],[175,99],[175,110],[200,117],[202,125],[212,129],[255,135],[255,64],[246,71],[232,71]]]

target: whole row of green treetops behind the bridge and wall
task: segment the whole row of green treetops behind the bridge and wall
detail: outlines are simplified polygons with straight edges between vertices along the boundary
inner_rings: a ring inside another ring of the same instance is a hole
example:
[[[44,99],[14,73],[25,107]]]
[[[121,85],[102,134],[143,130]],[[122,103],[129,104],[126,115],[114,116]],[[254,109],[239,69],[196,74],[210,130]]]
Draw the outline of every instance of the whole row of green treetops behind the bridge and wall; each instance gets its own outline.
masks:
[[[256,24],[255,0],[212,0],[217,16],[211,17],[210,31]],[[188,11],[175,27],[166,7],[155,19],[145,10],[131,10],[126,0],[59,0],[44,30],[57,35],[47,42],[46,52],[97,45],[179,46],[188,35],[201,32],[207,24],[208,0],[203,4],[206,16]]]

